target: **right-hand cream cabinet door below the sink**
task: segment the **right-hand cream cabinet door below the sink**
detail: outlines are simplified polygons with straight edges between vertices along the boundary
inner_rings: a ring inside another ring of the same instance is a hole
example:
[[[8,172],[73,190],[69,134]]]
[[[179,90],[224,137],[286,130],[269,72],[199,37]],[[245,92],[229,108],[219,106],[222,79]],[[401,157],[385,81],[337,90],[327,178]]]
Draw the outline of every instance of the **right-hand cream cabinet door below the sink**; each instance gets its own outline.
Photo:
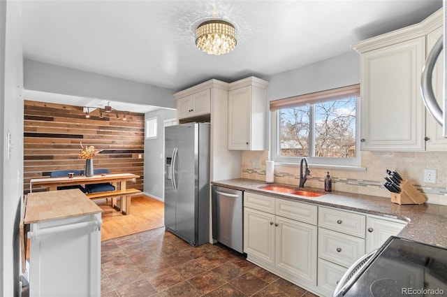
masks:
[[[275,226],[277,268],[316,285],[317,227],[284,217]]]

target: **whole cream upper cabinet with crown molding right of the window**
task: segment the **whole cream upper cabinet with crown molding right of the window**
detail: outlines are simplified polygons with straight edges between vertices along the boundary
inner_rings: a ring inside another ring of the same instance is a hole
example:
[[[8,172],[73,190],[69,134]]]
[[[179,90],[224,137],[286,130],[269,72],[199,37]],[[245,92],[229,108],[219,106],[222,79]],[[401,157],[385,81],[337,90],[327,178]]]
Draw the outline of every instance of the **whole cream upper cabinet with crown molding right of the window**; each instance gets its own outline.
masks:
[[[442,17],[439,10],[419,24],[352,45],[360,53],[362,150],[421,151],[426,141],[437,138],[428,135],[436,130],[428,124],[426,135],[420,79],[427,47],[439,34],[435,32],[442,32]],[[441,82],[440,75],[434,73],[434,81]],[[442,94],[442,83],[434,88]],[[427,150],[430,147],[427,143]],[[437,150],[446,148],[437,145]]]

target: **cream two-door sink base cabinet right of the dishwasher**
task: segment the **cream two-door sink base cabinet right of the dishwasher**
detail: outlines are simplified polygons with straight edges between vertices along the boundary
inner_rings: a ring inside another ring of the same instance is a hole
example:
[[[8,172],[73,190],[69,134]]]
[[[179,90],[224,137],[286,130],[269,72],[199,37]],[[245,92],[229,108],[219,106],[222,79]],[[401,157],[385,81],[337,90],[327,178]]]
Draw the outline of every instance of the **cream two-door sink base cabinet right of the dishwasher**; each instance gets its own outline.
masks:
[[[316,205],[245,191],[247,259],[287,280],[315,287],[316,215]]]

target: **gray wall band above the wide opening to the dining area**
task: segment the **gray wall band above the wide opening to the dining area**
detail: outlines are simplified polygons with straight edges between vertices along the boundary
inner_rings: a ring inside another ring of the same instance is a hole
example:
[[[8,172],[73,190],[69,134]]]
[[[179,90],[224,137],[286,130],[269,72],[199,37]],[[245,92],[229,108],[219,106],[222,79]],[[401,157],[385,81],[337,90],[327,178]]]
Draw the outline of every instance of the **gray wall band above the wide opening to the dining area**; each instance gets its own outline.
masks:
[[[24,59],[24,88],[54,94],[175,108],[172,89],[30,59]]]

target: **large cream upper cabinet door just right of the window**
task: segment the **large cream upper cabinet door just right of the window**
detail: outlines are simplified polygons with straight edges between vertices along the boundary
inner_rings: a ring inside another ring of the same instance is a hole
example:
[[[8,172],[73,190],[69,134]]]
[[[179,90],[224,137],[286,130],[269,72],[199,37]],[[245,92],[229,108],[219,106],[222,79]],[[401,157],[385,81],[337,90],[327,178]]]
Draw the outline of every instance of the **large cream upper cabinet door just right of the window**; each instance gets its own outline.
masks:
[[[425,36],[361,56],[361,149],[425,150]]]

